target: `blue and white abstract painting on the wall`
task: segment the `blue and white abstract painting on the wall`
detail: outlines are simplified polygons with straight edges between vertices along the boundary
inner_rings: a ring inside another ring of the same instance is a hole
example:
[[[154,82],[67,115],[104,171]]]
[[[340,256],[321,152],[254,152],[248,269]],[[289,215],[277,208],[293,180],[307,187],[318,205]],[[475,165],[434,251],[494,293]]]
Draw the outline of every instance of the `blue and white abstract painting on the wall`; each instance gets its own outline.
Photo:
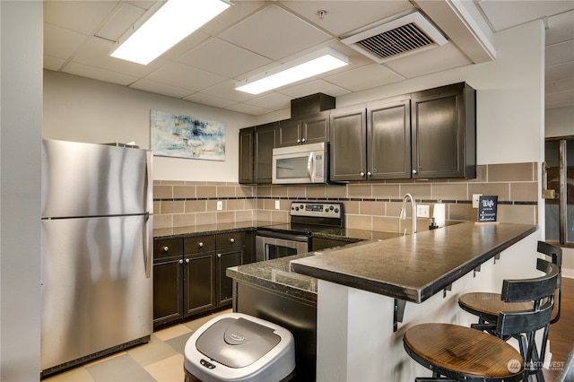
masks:
[[[153,155],[225,161],[225,124],[151,110]]]

